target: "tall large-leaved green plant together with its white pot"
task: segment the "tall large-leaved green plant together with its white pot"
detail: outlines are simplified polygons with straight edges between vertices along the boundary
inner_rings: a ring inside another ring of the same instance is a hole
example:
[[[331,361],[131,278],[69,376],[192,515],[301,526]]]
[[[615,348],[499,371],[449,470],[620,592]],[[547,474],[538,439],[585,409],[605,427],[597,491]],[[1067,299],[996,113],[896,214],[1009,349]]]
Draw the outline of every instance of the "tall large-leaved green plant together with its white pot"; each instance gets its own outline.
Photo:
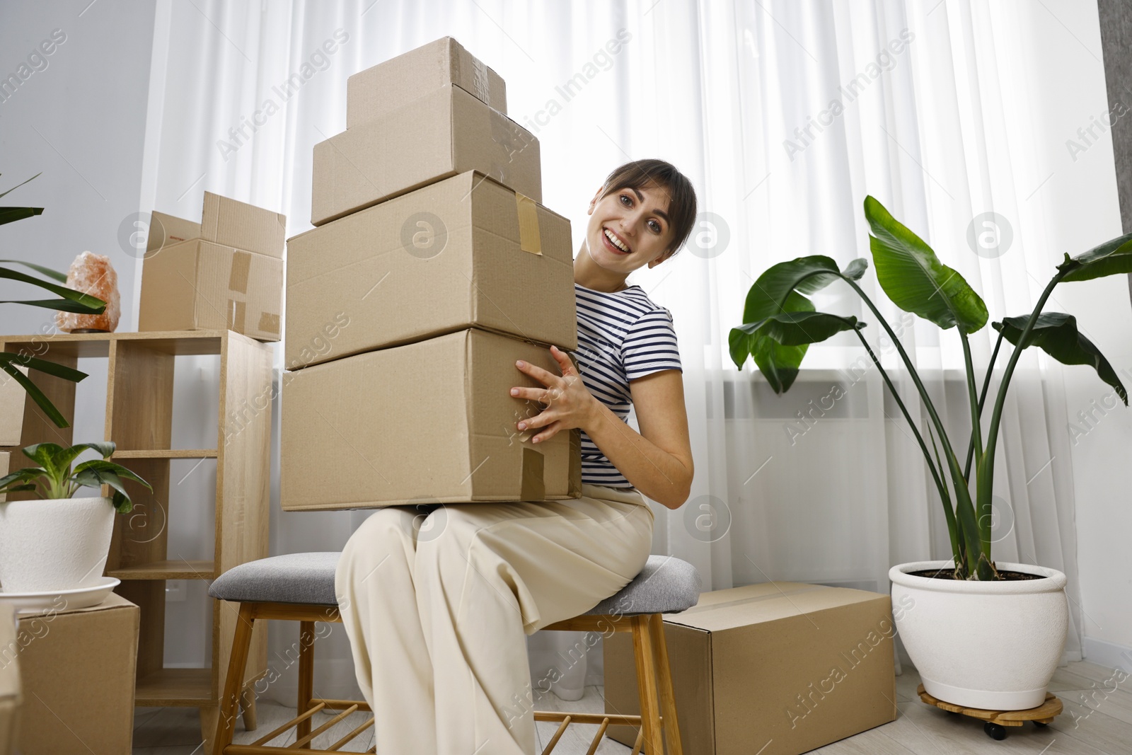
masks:
[[[789,389],[811,343],[851,331],[868,352],[924,454],[938,491],[951,541],[950,561],[893,566],[892,602],[904,607],[897,627],[925,689],[938,700],[969,707],[1026,710],[1040,705],[1061,660],[1069,626],[1065,575],[1023,564],[992,559],[992,490],[998,424],[1006,391],[1028,346],[1037,346],[1065,364],[1089,364],[1127,404],[1127,392],[1100,351],[1077,329],[1071,315],[1044,312],[1054,286],[1106,275],[1132,273],[1132,234],[1107,241],[1077,257],[1065,255],[1029,315],[993,323],[998,332],[990,363],[976,379],[968,336],[988,319],[983,299],[955,271],[901,225],[873,197],[865,198],[872,234],[869,249],[877,282],[900,309],[954,327],[963,348],[970,402],[966,460],[951,443],[900,338],[857,284],[868,264],[852,260],[843,271],[829,257],[799,257],[765,271],[747,294],[744,323],[731,329],[729,349],[741,369],[752,357],[775,393]],[[805,294],[833,281],[856,291],[892,340],[927,414],[925,431],[912,418],[887,372],[861,334],[865,323],[815,310]],[[1003,341],[1013,345],[984,423],[984,410]],[[984,430],[984,428],[986,428]],[[927,439],[925,440],[925,436]],[[928,451],[931,444],[932,451]],[[971,464],[974,461],[974,475]],[[950,487],[949,487],[950,482]]]

